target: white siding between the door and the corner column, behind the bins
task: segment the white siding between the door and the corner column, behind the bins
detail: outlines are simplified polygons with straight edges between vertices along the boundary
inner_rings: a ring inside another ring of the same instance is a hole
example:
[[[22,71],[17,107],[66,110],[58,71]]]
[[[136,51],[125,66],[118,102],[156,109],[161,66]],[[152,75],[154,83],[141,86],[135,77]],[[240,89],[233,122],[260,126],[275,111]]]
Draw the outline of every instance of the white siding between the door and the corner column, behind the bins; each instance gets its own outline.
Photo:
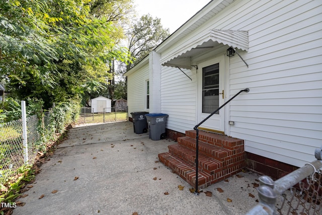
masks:
[[[162,112],[169,114],[167,128],[185,133],[196,124],[196,74],[195,71],[162,67]]]

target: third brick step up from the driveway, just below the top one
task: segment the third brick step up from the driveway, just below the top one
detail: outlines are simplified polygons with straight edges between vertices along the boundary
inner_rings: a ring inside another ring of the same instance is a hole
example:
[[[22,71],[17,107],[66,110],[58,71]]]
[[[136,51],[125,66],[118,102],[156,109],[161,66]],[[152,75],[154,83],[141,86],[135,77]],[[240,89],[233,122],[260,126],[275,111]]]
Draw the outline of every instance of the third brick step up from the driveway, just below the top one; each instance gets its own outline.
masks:
[[[188,137],[188,136],[178,137],[178,144],[184,147],[187,147],[191,150],[194,150],[194,151],[196,150],[196,139],[193,139],[191,137]],[[203,142],[203,141],[199,141],[198,145],[199,145],[199,154],[208,156],[220,162],[227,160],[227,158],[229,158],[233,154],[233,151],[231,150],[227,150],[221,147],[207,144],[206,142]]]

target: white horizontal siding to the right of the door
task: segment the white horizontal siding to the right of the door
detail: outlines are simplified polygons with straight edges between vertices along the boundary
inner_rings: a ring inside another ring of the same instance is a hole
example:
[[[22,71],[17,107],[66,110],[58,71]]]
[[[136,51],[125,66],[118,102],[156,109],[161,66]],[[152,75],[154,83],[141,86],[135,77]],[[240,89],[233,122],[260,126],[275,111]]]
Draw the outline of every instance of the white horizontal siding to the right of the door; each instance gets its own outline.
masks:
[[[230,25],[249,30],[249,52],[241,52],[249,68],[230,57],[230,95],[250,92],[230,104],[230,135],[245,139],[248,152],[302,166],[322,145],[321,3],[238,1],[235,7],[245,9]]]

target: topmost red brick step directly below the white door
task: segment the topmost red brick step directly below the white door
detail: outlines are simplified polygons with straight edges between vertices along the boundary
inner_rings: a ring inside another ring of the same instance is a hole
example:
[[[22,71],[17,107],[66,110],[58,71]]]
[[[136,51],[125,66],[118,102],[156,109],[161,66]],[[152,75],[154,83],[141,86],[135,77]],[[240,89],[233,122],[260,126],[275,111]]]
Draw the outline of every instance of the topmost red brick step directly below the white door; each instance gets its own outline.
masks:
[[[196,139],[196,131],[187,130],[186,136]],[[207,144],[225,148],[227,150],[236,150],[241,148],[244,150],[243,139],[237,139],[237,138],[224,136],[217,133],[211,133],[211,132],[199,130],[199,140],[206,142]]]

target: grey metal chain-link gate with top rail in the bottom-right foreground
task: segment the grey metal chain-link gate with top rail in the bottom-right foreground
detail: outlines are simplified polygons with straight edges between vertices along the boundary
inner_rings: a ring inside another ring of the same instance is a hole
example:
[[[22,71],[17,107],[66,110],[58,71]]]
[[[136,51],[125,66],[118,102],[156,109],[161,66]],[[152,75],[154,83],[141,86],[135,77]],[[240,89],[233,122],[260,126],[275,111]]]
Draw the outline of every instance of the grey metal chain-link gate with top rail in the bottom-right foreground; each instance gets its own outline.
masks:
[[[246,214],[322,214],[322,148],[315,150],[315,158],[276,181],[261,176],[259,203]]]

